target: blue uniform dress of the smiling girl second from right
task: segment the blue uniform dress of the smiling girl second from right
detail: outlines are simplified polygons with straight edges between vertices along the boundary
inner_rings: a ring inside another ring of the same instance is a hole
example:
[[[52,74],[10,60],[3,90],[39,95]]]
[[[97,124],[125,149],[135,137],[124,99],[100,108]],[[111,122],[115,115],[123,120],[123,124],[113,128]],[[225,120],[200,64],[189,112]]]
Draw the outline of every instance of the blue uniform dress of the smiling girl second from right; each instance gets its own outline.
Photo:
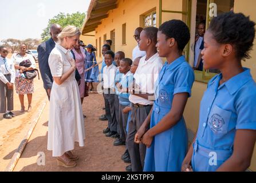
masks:
[[[171,64],[165,63],[156,83],[150,128],[170,112],[175,94],[188,93],[191,96],[194,79],[194,71],[184,56]],[[182,117],[175,126],[153,137],[151,146],[147,148],[144,171],[180,171],[186,153],[187,128]]]

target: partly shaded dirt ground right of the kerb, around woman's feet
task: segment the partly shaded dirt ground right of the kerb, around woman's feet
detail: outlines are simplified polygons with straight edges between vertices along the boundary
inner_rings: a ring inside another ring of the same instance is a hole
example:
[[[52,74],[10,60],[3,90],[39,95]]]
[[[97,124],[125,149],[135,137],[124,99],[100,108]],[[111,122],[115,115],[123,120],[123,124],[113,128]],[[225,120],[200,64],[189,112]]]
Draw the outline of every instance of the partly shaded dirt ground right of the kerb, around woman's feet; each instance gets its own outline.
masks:
[[[48,103],[14,171],[124,171],[125,166],[128,165],[121,160],[125,146],[113,146],[114,138],[105,137],[102,133],[102,130],[107,127],[107,121],[98,120],[99,116],[104,113],[102,106],[103,96],[100,94],[90,94],[85,98],[82,105],[83,112],[87,116],[85,118],[85,146],[79,147],[77,143],[73,150],[80,158],[77,166],[64,168],[57,166],[52,152],[46,150]],[[45,166],[37,165],[38,152],[45,153]]]

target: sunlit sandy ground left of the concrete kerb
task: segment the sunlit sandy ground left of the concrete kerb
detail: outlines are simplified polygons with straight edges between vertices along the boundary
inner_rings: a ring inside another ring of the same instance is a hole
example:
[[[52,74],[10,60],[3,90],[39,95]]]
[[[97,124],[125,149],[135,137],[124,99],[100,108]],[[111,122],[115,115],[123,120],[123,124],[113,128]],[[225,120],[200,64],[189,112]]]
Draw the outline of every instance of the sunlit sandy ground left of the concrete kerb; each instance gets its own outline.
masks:
[[[32,111],[27,113],[20,113],[21,104],[19,103],[18,95],[14,89],[14,110],[16,115],[11,120],[6,120],[0,114],[0,171],[4,170],[9,164],[11,157],[18,148],[21,140],[29,130],[31,122],[38,115],[38,110],[46,100],[45,90],[42,87],[42,80],[34,79],[34,90],[32,98]],[[27,109],[27,97],[24,98],[25,109]]]

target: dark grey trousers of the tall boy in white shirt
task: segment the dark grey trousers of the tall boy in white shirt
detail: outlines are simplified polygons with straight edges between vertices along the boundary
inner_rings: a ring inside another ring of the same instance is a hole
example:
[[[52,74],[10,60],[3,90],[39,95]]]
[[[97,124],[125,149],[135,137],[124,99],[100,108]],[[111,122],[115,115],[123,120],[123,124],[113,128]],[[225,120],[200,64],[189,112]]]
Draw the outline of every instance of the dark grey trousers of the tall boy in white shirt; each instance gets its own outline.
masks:
[[[142,143],[136,144],[134,142],[134,137],[135,137],[135,134],[137,133],[137,130],[139,130],[140,126],[143,124],[143,122],[147,118],[151,108],[152,108],[152,105],[147,105],[140,108],[132,106],[131,121],[128,122],[129,132],[127,137],[127,144],[128,144],[128,151],[131,157],[133,172],[143,171],[146,146]]]

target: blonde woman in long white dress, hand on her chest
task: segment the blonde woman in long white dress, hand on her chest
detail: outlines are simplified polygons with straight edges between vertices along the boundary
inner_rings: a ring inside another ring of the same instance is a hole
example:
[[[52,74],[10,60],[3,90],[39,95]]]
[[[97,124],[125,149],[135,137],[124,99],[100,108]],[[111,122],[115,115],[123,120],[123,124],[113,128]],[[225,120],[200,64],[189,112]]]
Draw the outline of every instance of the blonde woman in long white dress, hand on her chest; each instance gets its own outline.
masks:
[[[50,96],[48,150],[53,150],[58,166],[76,166],[78,157],[72,154],[74,142],[84,146],[85,130],[80,93],[75,79],[76,61],[69,49],[78,45],[80,30],[65,27],[58,35],[58,43],[49,56],[53,86]]]

